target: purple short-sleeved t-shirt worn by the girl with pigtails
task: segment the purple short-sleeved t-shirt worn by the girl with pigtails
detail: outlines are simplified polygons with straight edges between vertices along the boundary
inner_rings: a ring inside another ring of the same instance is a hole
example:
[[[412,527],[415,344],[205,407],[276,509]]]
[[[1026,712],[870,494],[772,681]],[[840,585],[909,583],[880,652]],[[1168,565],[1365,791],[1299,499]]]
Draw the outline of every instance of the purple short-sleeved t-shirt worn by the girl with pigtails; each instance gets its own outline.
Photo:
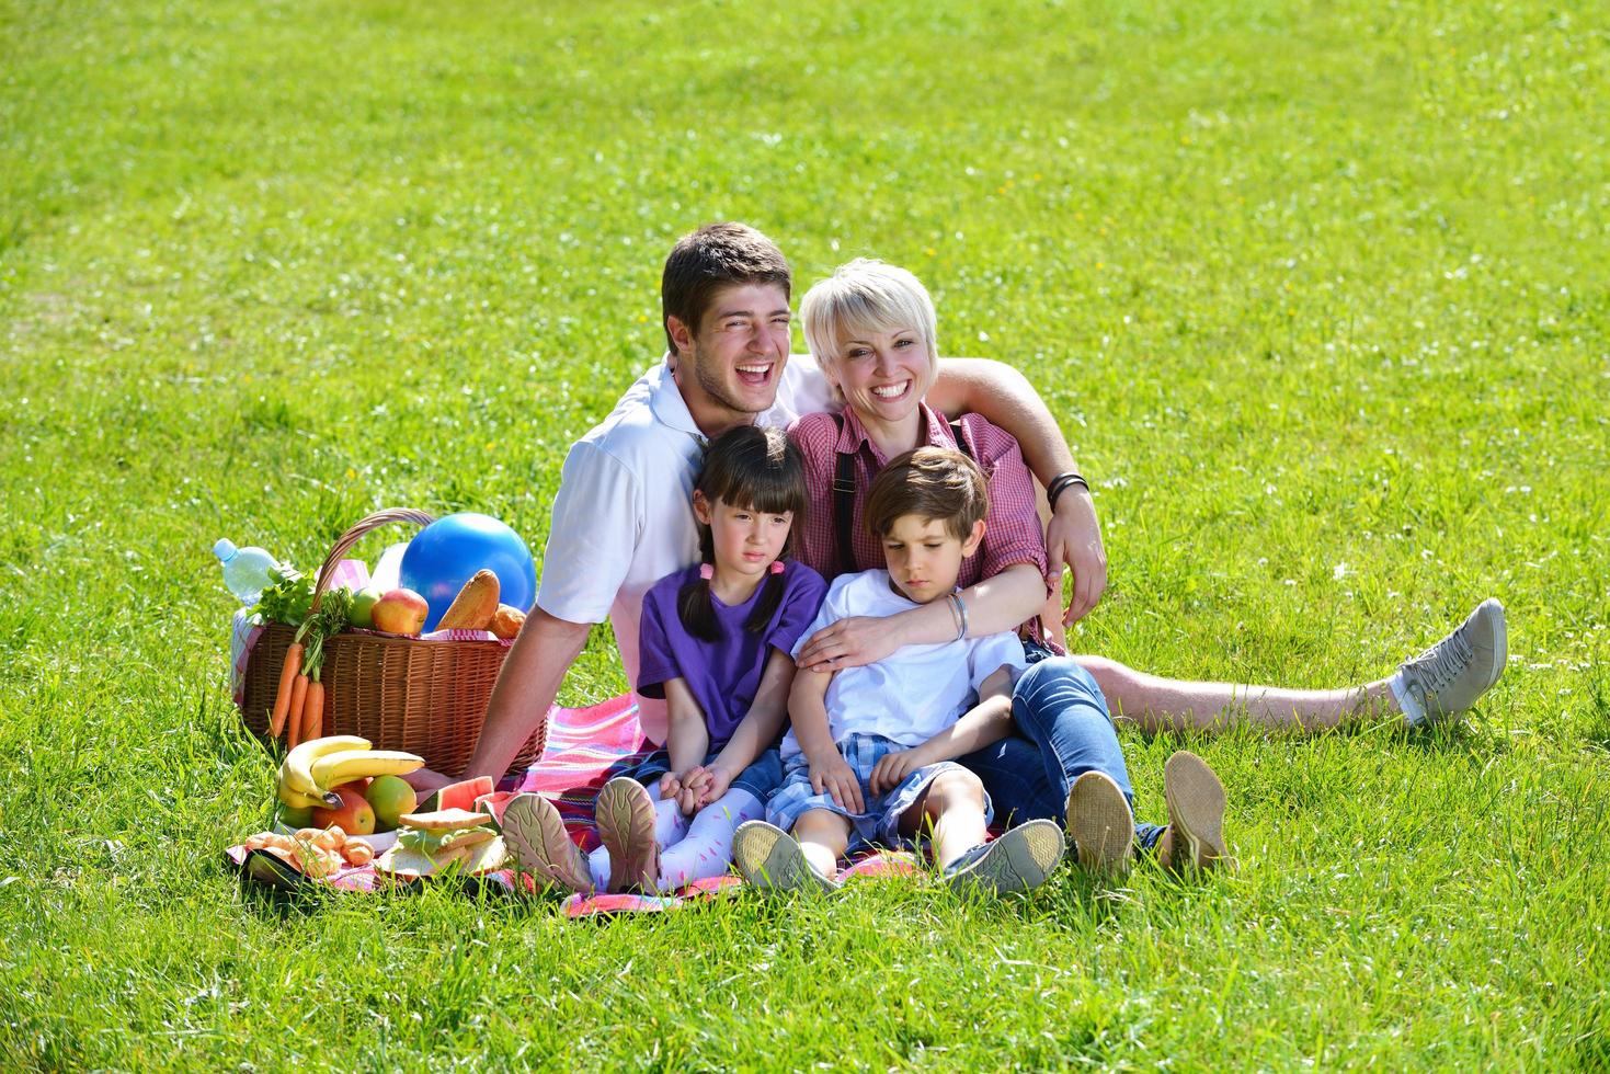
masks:
[[[744,630],[744,620],[766,589],[762,583],[744,604],[728,607],[712,599],[716,622],[721,625],[721,639],[710,642],[689,634],[676,615],[676,594],[697,576],[697,567],[667,575],[642,597],[638,692],[644,697],[665,697],[665,683],[670,680],[679,678],[687,683],[687,689],[704,708],[710,749],[716,750],[726,746],[733,731],[749,715],[771,651],[779,649],[784,655],[791,652],[794,642],[816,618],[816,610],[828,594],[828,583],[810,567],[784,560],[782,601],[778,602],[766,630],[758,634]]]

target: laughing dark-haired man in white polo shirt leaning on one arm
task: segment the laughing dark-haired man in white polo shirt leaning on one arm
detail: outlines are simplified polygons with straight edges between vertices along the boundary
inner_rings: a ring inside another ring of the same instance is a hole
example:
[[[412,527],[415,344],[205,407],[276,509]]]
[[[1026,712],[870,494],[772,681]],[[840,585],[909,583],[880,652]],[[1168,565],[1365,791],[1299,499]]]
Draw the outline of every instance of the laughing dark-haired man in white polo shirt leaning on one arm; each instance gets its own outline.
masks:
[[[741,422],[787,423],[829,409],[815,361],[789,354],[791,293],[787,261],[752,227],[712,224],[671,250],[660,283],[670,349],[565,459],[536,607],[497,678],[465,776],[501,776],[509,768],[552,705],[591,625],[605,615],[626,680],[636,684],[642,594],[699,556],[689,501],[704,441]],[[947,414],[976,411],[1011,432],[1043,485],[1074,470],[1055,419],[1008,366],[945,359],[929,401]],[[1087,489],[1069,488],[1058,498],[1046,546],[1053,565],[1074,570],[1072,622],[1095,607],[1106,586],[1106,554]],[[943,607],[908,615],[902,644],[955,633]],[[834,630],[832,652],[844,660],[892,651],[879,636],[887,626],[874,633],[845,620]],[[807,646],[802,663],[811,662]],[[662,741],[665,702],[639,697],[638,704],[644,733]]]

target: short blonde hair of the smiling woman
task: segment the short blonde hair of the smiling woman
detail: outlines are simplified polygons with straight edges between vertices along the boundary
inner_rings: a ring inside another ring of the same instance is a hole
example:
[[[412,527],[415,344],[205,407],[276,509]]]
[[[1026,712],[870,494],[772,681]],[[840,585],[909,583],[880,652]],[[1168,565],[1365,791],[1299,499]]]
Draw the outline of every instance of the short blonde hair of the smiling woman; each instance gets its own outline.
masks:
[[[939,377],[939,340],[934,299],[923,282],[898,266],[874,258],[857,258],[818,280],[800,299],[805,345],[818,362],[834,366],[844,340],[861,332],[911,328],[927,348],[927,393]]]

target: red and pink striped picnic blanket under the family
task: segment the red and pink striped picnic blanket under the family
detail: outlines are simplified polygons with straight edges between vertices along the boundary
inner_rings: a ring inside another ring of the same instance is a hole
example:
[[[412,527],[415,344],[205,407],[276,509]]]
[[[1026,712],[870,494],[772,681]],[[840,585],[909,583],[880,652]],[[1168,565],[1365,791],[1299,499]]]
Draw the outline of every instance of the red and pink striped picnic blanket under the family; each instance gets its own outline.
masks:
[[[523,773],[504,778],[497,786],[504,792],[499,797],[523,791],[541,794],[559,808],[572,841],[583,850],[592,850],[599,845],[592,829],[592,812],[599,791],[620,773],[634,768],[649,749],[652,747],[638,723],[638,705],[631,694],[610,697],[584,708],[554,705],[547,712],[547,746],[543,758]],[[335,890],[372,892],[388,884],[385,878],[375,874],[372,865],[346,866],[314,881],[293,874],[288,866],[269,853],[248,852],[245,845],[229,847],[224,853],[246,876],[277,887],[311,882]],[[916,855],[884,852],[860,855],[845,878],[906,876],[919,870]],[[514,870],[502,870],[480,878],[480,881],[509,892],[522,887],[526,892],[533,890],[531,878],[517,876]],[[716,898],[741,887],[742,881],[736,876],[716,876],[694,881],[687,887],[665,895],[570,895],[562,910],[572,918],[609,913],[663,913],[687,902]]]

